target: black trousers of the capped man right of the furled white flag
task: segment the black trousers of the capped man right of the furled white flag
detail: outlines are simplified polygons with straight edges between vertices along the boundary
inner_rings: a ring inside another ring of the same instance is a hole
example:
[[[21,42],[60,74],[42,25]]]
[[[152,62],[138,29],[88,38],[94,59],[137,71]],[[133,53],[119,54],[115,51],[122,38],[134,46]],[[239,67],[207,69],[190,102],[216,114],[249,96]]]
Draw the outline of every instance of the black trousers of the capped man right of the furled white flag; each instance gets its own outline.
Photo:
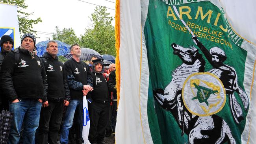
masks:
[[[91,144],[104,140],[106,127],[109,121],[109,108],[109,103],[100,103],[95,101],[89,103],[89,141]]]

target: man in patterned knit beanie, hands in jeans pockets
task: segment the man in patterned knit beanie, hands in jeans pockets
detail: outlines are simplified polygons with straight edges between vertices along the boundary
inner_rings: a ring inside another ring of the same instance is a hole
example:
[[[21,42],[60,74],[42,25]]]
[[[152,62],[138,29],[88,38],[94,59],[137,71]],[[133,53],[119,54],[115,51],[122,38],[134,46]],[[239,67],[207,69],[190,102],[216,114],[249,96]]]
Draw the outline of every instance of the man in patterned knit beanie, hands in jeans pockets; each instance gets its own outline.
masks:
[[[47,96],[45,68],[36,55],[35,37],[32,34],[24,34],[21,46],[6,55],[1,74],[2,89],[9,100],[9,111],[13,113],[8,143],[19,143],[23,126],[23,143],[32,144],[42,102],[46,101]]]

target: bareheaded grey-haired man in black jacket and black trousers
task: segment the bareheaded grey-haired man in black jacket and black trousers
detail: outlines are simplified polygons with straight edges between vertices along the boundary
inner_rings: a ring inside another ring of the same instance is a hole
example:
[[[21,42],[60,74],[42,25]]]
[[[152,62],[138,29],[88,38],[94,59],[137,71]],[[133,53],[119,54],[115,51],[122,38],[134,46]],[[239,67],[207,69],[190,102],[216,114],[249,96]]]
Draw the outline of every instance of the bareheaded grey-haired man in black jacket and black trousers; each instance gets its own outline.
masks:
[[[41,109],[37,144],[57,144],[63,113],[63,104],[69,105],[70,92],[63,63],[58,60],[58,44],[49,41],[41,59],[47,74],[47,100]],[[49,136],[49,138],[48,138]],[[49,140],[49,141],[48,141]]]

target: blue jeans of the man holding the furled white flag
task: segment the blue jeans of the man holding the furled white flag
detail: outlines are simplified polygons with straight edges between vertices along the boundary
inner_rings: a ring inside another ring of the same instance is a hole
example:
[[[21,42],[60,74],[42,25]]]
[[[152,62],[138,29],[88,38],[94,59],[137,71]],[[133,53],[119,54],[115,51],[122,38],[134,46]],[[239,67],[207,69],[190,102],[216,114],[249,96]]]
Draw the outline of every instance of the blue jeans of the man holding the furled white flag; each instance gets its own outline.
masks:
[[[82,129],[83,129],[83,99],[73,99],[70,101],[69,106],[67,107],[63,125],[61,127],[60,133],[60,143],[67,144],[69,142],[69,129],[72,127],[74,114],[76,111],[76,107],[79,109],[79,121],[80,121],[80,135],[82,136]]]

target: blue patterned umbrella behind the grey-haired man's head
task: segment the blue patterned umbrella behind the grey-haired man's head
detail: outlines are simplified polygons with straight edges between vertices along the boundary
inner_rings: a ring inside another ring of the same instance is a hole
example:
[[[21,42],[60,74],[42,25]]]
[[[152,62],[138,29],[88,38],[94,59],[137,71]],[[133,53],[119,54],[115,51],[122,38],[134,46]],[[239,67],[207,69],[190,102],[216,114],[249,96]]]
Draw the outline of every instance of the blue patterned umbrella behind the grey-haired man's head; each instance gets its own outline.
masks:
[[[37,55],[41,57],[43,54],[46,52],[46,45],[49,41],[41,41],[38,42],[35,46],[37,47]],[[61,41],[56,41],[58,44],[58,56],[59,55],[65,55],[69,53],[69,45],[65,44],[64,42]]]

